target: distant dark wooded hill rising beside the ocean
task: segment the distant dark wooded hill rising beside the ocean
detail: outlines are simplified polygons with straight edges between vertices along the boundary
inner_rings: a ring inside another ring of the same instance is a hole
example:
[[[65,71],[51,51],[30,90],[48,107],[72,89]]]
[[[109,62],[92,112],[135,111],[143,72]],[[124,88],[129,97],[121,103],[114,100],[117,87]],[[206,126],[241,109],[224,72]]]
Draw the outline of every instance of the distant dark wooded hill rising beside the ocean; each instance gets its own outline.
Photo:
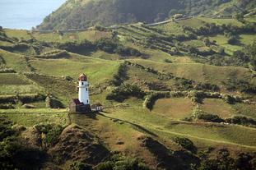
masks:
[[[186,16],[235,16],[254,9],[254,1],[174,0],[68,0],[46,16],[38,30],[70,30],[91,25],[124,25],[165,21],[175,14]]]

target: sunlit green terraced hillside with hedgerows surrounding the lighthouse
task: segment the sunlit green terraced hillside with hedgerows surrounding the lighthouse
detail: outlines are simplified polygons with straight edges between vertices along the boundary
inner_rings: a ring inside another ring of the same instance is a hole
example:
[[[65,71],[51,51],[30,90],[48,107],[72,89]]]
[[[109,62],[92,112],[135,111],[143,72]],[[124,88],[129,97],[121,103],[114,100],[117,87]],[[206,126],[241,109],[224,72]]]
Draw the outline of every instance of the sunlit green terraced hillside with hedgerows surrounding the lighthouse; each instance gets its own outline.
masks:
[[[255,22],[0,29],[0,165],[255,169]],[[81,73],[103,112],[67,111]]]

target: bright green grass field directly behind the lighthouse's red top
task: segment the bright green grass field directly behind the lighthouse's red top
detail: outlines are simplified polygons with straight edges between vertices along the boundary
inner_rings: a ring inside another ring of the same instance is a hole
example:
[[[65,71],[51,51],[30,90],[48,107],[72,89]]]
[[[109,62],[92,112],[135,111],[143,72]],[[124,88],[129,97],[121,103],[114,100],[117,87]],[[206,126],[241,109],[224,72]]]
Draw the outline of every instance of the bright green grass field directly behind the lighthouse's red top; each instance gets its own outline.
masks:
[[[70,59],[36,59],[30,60],[30,65],[37,72],[44,75],[71,76],[77,80],[81,73],[87,75],[88,83],[95,85],[98,82],[111,80],[117,73],[119,62],[98,60],[91,57],[83,57],[71,53]],[[81,57],[81,60],[78,58]]]

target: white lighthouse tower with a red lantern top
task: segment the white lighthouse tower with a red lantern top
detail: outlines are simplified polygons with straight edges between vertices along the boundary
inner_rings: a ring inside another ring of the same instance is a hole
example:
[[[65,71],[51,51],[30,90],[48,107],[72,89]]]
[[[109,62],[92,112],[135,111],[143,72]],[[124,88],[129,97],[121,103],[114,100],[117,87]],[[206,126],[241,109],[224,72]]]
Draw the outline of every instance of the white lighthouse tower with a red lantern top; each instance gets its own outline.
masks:
[[[80,103],[90,104],[89,90],[88,90],[89,85],[87,83],[87,77],[83,73],[80,76],[78,87],[79,87],[78,99],[79,99]]]

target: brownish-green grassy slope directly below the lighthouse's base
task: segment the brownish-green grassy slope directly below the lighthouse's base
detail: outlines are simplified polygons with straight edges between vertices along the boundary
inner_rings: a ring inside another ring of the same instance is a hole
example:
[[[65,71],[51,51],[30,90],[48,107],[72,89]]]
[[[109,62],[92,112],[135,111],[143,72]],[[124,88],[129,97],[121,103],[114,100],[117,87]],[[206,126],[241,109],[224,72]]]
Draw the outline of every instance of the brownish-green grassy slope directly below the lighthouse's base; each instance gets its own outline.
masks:
[[[129,123],[113,122],[101,113],[70,114],[70,119],[72,123],[76,123],[86,131],[91,131],[94,136],[100,136],[100,140],[103,140],[101,143],[111,151],[129,150],[129,153],[135,154],[137,150],[141,150],[137,136],[142,134],[134,130],[133,125]],[[123,142],[123,145],[116,145],[118,141]]]

